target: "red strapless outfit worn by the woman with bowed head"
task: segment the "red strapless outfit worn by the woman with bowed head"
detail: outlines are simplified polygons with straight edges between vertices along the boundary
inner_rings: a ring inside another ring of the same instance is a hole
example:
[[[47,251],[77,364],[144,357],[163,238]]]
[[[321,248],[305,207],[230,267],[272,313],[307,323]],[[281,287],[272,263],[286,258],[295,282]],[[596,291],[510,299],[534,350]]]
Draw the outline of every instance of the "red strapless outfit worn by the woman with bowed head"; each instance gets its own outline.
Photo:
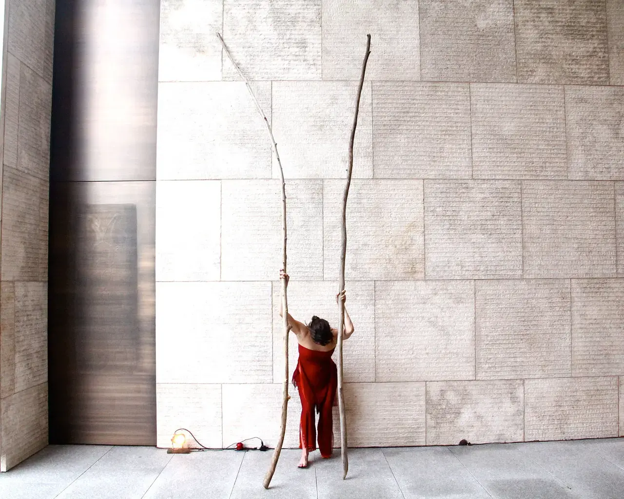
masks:
[[[334,349],[328,352],[310,350],[299,346],[299,361],[293,374],[293,384],[299,390],[301,399],[301,422],[299,426],[299,448],[303,445],[309,451],[316,450],[316,429],[314,408],[318,418],[318,448],[322,457],[331,456],[333,417],[331,408],[336,399],[338,371],[331,360]]]

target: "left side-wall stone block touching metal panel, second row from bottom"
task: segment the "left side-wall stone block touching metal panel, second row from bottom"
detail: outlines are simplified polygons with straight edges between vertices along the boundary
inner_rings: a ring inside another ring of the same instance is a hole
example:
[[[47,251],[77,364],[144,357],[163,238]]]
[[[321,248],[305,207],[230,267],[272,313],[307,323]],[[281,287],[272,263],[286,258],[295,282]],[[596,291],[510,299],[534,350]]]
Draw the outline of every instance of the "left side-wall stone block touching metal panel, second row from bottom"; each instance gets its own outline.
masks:
[[[15,391],[47,381],[47,283],[15,283]]]

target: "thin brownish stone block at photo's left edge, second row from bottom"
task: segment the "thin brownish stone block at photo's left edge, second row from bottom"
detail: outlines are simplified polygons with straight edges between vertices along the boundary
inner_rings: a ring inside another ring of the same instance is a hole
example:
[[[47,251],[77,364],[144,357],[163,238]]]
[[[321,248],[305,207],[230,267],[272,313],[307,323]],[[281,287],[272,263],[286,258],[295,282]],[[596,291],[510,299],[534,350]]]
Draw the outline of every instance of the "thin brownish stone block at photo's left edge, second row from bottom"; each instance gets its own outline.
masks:
[[[15,283],[5,281],[0,284],[0,399],[14,393]]]

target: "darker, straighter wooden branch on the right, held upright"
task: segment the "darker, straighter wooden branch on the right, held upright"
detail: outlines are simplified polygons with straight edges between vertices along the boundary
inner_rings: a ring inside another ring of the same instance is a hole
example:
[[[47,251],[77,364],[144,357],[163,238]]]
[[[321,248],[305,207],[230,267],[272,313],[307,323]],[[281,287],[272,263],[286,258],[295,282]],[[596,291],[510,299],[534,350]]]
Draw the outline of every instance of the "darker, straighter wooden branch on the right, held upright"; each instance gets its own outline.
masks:
[[[359,100],[364,87],[364,74],[366,74],[366,63],[371,55],[371,36],[366,35],[366,54],[362,63],[362,74],[359,77],[358,98],[355,103],[355,115],[353,117],[353,127],[351,128],[351,138],[349,139],[349,169],[347,170],[347,182],[344,186],[343,196],[343,248],[340,254],[340,276],[338,292],[344,289],[344,260],[347,253],[347,197],[349,196],[349,186],[351,185],[351,173],[353,172],[353,142],[355,140],[355,129],[358,126]],[[338,300],[340,321],[338,322],[338,409],[340,411],[340,447],[343,458],[343,480],[349,471],[349,458],[347,455],[347,424],[344,414],[344,394],[343,394],[343,332],[344,332],[344,302]]]

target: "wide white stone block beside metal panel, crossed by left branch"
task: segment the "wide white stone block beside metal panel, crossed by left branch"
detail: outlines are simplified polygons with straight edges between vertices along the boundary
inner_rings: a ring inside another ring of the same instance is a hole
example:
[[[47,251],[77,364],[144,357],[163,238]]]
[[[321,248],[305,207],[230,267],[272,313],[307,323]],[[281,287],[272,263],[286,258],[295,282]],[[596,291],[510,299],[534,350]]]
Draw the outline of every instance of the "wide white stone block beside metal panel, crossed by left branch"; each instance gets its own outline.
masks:
[[[271,119],[271,84],[253,85]],[[271,143],[242,82],[158,84],[158,180],[270,178]]]

